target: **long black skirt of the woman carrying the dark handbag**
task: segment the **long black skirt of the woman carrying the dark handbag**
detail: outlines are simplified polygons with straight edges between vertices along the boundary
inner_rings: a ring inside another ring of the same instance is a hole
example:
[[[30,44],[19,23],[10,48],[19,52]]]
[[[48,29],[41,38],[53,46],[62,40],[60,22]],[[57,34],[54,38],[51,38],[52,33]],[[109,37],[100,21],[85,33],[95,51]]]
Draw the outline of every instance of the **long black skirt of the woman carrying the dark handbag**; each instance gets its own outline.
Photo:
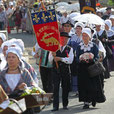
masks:
[[[79,101],[83,102],[105,102],[105,95],[103,92],[102,78],[100,76],[90,77],[88,73],[88,66],[90,64],[80,63],[78,73],[78,92]]]

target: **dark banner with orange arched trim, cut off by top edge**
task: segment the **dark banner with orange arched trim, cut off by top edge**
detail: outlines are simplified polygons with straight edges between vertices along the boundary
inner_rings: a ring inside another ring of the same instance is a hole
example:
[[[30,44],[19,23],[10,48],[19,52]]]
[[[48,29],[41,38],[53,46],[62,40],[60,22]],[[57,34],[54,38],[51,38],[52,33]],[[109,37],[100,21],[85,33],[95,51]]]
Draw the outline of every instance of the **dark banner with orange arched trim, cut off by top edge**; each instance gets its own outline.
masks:
[[[79,0],[80,3],[80,12],[96,12],[96,0]]]

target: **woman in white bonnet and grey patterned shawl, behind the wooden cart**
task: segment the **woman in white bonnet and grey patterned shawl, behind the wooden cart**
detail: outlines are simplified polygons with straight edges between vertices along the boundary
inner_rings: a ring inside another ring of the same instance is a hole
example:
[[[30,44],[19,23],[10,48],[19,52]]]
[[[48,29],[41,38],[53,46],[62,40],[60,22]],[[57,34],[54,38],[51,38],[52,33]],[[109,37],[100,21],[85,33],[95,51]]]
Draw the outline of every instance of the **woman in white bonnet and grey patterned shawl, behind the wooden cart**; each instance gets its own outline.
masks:
[[[10,47],[6,51],[8,66],[1,72],[0,84],[9,96],[16,90],[24,90],[25,86],[36,87],[29,71],[19,65],[21,57],[22,51],[18,47]]]

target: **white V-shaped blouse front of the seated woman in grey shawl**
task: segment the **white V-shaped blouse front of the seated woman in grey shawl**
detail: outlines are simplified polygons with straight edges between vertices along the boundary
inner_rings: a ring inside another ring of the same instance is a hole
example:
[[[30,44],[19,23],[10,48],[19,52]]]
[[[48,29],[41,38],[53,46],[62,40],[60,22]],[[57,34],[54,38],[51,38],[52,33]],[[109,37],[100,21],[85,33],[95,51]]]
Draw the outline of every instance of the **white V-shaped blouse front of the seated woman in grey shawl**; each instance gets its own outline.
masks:
[[[6,74],[5,75],[5,79],[12,91],[16,88],[20,78],[21,78],[21,74]]]

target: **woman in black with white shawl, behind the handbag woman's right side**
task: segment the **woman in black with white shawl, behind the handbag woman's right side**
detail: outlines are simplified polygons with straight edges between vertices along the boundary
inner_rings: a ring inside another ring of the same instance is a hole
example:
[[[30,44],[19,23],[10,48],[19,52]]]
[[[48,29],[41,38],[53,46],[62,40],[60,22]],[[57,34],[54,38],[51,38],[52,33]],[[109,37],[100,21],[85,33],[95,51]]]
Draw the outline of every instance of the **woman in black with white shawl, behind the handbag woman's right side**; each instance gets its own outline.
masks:
[[[95,33],[93,35],[93,38],[98,38],[105,50],[106,50],[106,57],[103,59],[103,65],[106,69],[105,73],[104,73],[104,78],[107,79],[110,77],[110,72],[109,72],[109,66],[108,66],[108,54],[107,54],[107,40],[108,40],[108,37],[107,37],[107,33],[104,29],[101,28],[101,25],[95,25],[96,29],[95,29]]]

